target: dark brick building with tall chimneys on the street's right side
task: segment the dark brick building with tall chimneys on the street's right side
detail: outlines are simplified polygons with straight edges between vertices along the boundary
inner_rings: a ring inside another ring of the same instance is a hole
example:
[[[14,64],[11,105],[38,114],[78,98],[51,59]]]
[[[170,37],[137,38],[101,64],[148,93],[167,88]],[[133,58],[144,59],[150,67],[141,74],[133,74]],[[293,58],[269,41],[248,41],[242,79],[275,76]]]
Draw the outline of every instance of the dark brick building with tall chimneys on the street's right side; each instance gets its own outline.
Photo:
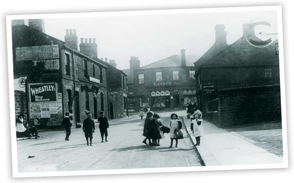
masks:
[[[198,104],[203,115],[219,126],[280,120],[279,59],[273,43],[250,45],[243,36],[226,44],[224,25],[216,25],[215,44],[195,66]]]

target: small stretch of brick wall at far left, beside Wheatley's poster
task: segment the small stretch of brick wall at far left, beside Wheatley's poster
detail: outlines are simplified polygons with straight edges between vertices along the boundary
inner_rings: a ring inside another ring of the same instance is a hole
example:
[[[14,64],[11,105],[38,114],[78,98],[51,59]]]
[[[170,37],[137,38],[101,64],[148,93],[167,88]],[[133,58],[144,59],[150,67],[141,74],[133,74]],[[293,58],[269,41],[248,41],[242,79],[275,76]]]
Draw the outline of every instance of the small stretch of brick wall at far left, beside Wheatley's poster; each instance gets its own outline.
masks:
[[[26,105],[26,93],[23,91],[14,91],[15,100],[15,115],[24,115],[24,123],[27,122],[27,105]]]

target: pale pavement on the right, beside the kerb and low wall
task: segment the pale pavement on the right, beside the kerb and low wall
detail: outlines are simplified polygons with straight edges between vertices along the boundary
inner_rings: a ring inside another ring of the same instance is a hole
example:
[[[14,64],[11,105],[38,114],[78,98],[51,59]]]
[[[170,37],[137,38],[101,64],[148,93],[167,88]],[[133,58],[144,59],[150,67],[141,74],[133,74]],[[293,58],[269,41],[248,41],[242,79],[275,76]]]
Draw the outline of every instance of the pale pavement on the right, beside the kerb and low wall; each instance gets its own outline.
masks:
[[[186,113],[181,112],[180,115]],[[196,144],[190,131],[190,119],[183,118],[191,140]],[[254,145],[254,141],[240,133],[226,131],[206,120],[203,128],[205,135],[201,137],[201,146],[196,148],[205,166],[283,163],[282,156]]]

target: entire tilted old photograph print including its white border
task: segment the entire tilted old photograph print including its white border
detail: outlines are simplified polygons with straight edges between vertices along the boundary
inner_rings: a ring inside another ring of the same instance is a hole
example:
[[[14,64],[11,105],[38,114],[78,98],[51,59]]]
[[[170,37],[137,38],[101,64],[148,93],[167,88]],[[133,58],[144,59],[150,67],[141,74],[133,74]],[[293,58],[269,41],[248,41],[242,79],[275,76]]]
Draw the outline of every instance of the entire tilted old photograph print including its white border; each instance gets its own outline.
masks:
[[[288,167],[281,23],[280,6],[7,16],[13,176]]]

